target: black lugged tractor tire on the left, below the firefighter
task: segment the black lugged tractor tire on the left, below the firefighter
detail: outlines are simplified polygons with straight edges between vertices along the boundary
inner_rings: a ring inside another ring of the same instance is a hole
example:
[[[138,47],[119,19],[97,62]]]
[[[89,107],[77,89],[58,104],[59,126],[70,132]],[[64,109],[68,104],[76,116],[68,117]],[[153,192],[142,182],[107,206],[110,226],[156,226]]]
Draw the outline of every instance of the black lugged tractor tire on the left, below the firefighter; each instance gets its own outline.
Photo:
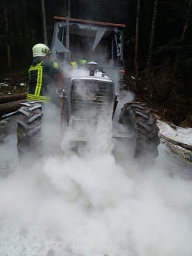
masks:
[[[39,158],[42,153],[41,146],[41,118],[43,103],[28,101],[21,103],[18,109],[18,158]]]

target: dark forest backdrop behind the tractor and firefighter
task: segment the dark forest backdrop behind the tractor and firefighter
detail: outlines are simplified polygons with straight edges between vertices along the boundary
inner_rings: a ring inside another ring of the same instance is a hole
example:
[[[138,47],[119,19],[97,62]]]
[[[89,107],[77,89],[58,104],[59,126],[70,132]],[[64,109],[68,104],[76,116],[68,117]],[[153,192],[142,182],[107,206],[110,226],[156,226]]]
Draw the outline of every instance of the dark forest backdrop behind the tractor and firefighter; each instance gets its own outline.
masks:
[[[0,82],[11,79],[12,87],[28,82],[31,48],[39,42],[51,47],[54,16],[120,23],[126,25],[127,90],[161,118],[192,127],[191,1],[2,0]],[[0,88],[0,96],[4,93]]]

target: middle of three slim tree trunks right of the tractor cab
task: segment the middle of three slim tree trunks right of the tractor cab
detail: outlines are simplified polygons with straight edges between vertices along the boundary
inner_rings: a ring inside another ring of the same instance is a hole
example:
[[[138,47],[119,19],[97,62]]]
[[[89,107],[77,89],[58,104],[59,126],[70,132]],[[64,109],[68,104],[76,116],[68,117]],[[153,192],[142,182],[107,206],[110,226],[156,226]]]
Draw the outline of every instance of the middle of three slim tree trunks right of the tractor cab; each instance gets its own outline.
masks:
[[[157,16],[157,4],[158,4],[158,0],[154,0],[154,14],[153,14],[152,25],[151,25],[151,37],[150,37],[150,44],[149,44],[147,68],[151,68],[151,57],[152,57],[153,45],[154,45],[154,28],[155,28],[155,21]]]

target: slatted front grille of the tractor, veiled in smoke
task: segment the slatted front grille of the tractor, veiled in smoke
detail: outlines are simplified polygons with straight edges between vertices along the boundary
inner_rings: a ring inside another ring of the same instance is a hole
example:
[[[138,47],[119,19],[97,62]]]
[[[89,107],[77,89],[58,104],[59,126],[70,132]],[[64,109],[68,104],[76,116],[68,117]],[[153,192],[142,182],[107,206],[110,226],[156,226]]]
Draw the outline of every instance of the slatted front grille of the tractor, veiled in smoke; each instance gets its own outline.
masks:
[[[86,123],[112,115],[114,84],[105,81],[74,80],[71,85],[71,121]]]

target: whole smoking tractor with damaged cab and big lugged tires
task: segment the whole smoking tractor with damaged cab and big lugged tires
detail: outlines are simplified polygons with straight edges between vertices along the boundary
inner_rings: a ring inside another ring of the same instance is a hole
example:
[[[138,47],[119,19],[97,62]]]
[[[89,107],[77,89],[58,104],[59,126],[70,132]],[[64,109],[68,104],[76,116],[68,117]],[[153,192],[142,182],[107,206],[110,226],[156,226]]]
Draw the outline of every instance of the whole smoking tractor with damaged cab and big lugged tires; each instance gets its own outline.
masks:
[[[58,59],[65,71],[65,84],[55,91],[61,110],[61,131],[64,123],[68,128],[78,127],[74,130],[75,138],[68,138],[78,145],[90,140],[84,134],[85,128],[91,125],[94,130],[98,121],[114,118],[118,109],[118,95],[124,92],[125,25],[68,17],[54,19],[51,60]],[[19,158],[41,155],[43,106],[40,101],[26,101],[18,110]],[[154,163],[159,129],[151,108],[141,102],[124,102],[115,129],[115,139],[131,141],[133,158]]]

